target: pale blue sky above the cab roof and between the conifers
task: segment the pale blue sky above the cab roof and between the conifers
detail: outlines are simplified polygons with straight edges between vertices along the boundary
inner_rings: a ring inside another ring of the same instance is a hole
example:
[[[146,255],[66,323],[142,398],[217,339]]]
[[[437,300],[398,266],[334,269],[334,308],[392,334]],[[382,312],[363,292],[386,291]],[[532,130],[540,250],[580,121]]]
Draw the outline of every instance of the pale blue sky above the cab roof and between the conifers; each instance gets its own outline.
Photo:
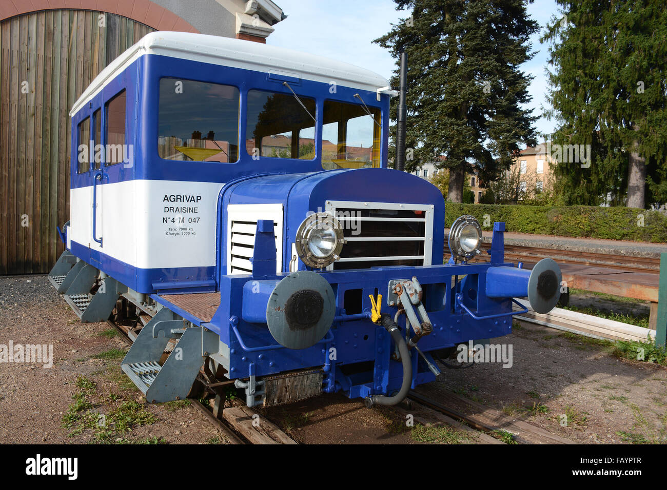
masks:
[[[396,11],[392,0],[274,0],[288,16],[275,25],[267,43],[305,51],[362,66],[389,78],[394,70],[394,59],[389,52],[372,43],[391,29],[407,13]],[[554,0],[536,0],[528,5],[528,13],[540,26],[552,15],[558,15]],[[560,17],[560,15],[558,15]],[[535,57],[524,63],[526,73],[534,75],[530,85],[533,96],[528,107],[534,115],[541,115],[541,105],[547,89],[544,67],[548,57],[546,45],[539,41],[540,33],[532,37]],[[551,133],[554,121],[541,117],[536,123],[538,133]]]

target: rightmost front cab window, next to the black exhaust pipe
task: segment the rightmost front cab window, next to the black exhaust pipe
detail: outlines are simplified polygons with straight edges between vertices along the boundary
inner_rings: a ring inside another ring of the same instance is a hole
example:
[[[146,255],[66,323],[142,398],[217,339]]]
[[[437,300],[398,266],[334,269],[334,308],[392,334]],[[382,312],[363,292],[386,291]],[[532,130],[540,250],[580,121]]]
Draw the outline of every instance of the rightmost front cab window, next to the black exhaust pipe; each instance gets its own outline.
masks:
[[[324,102],[322,167],[380,167],[380,109],[336,101]],[[424,174],[426,177],[426,173]]]

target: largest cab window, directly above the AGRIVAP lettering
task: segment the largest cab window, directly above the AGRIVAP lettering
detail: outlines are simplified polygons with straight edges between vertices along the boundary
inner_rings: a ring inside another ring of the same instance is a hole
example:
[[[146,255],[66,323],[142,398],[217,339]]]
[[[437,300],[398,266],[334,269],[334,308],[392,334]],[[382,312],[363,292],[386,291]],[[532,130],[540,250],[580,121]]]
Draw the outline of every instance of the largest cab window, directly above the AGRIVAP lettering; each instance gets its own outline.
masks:
[[[234,163],[239,159],[239,89],[161,78],[157,126],[160,158]]]

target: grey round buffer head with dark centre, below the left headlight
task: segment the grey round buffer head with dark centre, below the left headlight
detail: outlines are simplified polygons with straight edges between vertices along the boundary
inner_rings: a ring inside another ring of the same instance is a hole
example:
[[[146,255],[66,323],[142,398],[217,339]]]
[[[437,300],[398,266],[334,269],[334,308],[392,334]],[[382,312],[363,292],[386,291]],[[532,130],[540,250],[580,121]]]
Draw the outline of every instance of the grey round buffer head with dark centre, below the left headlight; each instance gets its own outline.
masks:
[[[336,297],[326,279],[312,271],[296,271],[273,289],[266,323],[280,345],[306,349],[323,339],[335,313]]]

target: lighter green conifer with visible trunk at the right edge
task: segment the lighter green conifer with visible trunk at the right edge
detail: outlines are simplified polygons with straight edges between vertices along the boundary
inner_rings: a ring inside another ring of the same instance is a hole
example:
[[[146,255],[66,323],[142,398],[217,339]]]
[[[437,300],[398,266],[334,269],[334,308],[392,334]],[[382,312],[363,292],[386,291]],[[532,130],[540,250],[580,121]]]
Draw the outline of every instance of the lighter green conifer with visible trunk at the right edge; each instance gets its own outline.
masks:
[[[556,166],[567,204],[667,202],[664,0],[557,0],[550,44],[554,145],[590,145]],[[584,145],[584,146],[582,146]]]

